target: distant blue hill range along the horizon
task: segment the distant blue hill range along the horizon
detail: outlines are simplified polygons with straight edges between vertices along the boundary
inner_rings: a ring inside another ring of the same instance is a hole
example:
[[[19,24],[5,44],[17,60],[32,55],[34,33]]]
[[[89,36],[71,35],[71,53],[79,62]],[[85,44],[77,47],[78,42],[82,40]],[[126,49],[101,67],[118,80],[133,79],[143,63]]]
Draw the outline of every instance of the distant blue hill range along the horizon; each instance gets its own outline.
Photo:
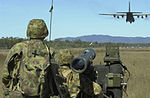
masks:
[[[61,41],[69,40],[74,41],[80,39],[86,42],[112,42],[112,43],[150,43],[150,37],[122,37],[122,36],[109,36],[109,35],[87,35],[79,37],[66,37],[59,38]]]

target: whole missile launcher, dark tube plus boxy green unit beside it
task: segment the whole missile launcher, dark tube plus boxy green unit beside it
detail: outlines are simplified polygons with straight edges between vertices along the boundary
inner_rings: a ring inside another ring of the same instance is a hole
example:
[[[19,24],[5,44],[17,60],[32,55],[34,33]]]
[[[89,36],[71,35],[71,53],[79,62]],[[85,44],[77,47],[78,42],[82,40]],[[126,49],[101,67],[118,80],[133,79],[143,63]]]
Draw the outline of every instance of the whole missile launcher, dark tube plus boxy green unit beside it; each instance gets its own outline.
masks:
[[[104,98],[122,98],[123,91],[126,93],[127,82],[129,80],[127,78],[125,81],[124,71],[128,73],[129,71],[120,60],[119,47],[106,47],[105,65],[92,66],[95,57],[96,53],[93,49],[86,49],[72,61],[70,67],[73,71],[79,73],[81,91],[85,87],[92,89],[91,81],[95,81],[102,87]],[[86,80],[86,82],[83,80]],[[81,95],[84,95],[84,93]],[[82,96],[82,98],[89,97]]]

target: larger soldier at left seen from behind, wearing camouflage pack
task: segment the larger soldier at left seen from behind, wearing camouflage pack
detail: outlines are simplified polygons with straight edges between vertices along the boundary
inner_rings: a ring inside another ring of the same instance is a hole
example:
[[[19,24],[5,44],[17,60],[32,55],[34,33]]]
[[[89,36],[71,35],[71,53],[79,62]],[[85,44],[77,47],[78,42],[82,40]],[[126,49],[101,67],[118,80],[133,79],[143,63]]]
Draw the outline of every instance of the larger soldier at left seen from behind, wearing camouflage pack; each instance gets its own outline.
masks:
[[[45,22],[33,19],[27,29],[30,39],[10,49],[2,77],[4,98],[70,98],[65,79],[58,72],[59,51],[48,48],[43,41],[46,36]]]

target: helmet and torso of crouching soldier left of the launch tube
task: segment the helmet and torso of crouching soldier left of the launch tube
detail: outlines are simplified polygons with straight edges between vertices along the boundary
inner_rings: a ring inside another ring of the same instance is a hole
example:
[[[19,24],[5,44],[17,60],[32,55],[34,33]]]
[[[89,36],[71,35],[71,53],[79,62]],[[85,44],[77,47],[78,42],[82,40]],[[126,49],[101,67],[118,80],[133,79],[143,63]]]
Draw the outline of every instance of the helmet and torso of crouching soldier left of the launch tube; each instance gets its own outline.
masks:
[[[60,65],[59,73],[66,78],[65,84],[69,88],[71,98],[75,98],[79,92],[78,86],[80,81],[79,76],[69,68],[74,56],[71,51],[65,49],[60,50],[55,57],[57,58],[56,61]]]

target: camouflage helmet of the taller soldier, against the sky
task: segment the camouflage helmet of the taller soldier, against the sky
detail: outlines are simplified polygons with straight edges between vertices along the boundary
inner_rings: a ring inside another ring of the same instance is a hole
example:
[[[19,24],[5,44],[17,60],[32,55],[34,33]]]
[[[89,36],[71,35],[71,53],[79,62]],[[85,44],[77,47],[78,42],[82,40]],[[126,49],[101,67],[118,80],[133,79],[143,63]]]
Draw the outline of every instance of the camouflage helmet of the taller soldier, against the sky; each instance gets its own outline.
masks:
[[[42,19],[32,19],[27,28],[27,37],[44,39],[48,36],[46,23]]]

